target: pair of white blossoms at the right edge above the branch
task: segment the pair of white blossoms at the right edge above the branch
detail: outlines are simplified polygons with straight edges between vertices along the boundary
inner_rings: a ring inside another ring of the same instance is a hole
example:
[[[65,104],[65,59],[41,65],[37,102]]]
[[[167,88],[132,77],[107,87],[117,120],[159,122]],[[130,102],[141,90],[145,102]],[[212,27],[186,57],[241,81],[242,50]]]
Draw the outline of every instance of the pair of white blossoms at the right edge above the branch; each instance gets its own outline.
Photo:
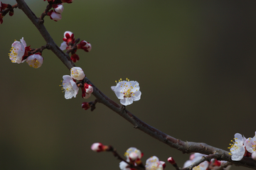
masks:
[[[230,144],[230,154],[233,161],[240,161],[242,157],[252,157],[256,160],[256,132],[254,137],[245,138],[240,133],[235,134],[233,144]]]

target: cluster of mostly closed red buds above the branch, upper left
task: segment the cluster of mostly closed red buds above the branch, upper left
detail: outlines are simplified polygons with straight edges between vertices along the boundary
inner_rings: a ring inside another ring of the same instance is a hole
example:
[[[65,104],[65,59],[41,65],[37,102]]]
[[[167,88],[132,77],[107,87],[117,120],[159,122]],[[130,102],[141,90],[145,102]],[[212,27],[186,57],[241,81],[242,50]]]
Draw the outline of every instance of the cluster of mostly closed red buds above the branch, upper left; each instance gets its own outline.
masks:
[[[63,42],[60,45],[60,50],[72,50],[70,59],[73,62],[77,62],[79,60],[79,56],[75,54],[77,49],[85,50],[85,52],[90,52],[92,50],[92,45],[89,42],[82,40],[80,43],[76,44],[75,35],[70,31],[65,31]]]

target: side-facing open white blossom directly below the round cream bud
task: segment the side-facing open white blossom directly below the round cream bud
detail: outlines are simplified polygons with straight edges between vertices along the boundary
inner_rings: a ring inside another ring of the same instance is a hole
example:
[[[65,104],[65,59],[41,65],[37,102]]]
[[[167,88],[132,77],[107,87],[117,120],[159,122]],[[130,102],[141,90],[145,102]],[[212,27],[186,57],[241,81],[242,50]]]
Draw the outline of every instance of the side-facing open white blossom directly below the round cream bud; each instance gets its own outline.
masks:
[[[75,98],[75,96],[78,94],[78,86],[75,83],[75,81],[72,79],[72,77],[68,75],[63,76],[63,89],[65,90],[65,98]]]

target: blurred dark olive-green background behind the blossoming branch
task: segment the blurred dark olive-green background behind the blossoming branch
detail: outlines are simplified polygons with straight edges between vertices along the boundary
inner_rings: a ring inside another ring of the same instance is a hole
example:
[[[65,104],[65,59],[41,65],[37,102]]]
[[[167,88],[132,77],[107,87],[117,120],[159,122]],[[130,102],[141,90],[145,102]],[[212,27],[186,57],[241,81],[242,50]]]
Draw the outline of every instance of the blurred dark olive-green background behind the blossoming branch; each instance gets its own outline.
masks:
[[[14,0],[2,1],[15,4]],[[43,0],[26,1],[40,16]],[[255,135],[256,1],[75,0],[62,20],[45,26],[55,42],[70,30],[92,44],[78,50],[78,67],[104,94],[119,78],[139,82],[142,98],[127,109],[149,125],[181,140],[227,149],[235,132]],[[178,166],[188,159],[97,104],[84,111],[81,98],[66,100],[59,84],[70,74],[58,57],[43,51],[39,69],[12,64],[9,50],[21,38],[33,48],[46,42],[16,9],[0,26],[0,169],[119,169],[111,153],[90,150],[93,142],[129,147]],[[166,169],[174,169],[166,164]],[[246,169],[235,167],[233,169]]]

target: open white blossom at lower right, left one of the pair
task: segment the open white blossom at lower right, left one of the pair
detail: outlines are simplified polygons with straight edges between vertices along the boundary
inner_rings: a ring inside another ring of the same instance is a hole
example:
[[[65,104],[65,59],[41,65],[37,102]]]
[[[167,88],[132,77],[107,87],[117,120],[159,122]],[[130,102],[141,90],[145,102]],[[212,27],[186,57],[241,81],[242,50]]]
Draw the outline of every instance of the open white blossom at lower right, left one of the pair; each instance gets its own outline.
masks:
[[[233,142],[233,145],[230,144],[231,146],[229,147],[232,154],[231,159],[233,161],[240,161],[245,154],[245,146],[243,144],[246,138],[242,137],[240,133],[236,133],[234,140],[235,142],[231,140],[231,142]]]

